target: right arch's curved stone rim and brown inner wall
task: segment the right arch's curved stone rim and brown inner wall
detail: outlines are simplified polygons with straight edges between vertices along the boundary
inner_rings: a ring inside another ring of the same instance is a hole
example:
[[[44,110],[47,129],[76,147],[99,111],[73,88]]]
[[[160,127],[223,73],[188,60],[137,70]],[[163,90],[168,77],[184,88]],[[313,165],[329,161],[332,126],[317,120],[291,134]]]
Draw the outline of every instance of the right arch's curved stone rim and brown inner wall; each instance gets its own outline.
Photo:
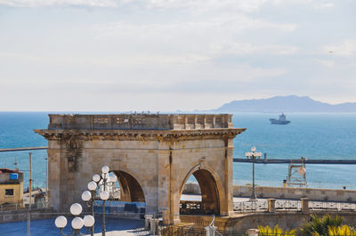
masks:
[[[209,168],[206,165],[198,164],[190,169],[180,187],[179,199],[181,199],[184,185],[187,183],[190,176],[194,176],[200,187],[202,209],[207,214],[221,215],[224,208],[223,204],[223,184],[220,178],[214,172],[214,169]]]

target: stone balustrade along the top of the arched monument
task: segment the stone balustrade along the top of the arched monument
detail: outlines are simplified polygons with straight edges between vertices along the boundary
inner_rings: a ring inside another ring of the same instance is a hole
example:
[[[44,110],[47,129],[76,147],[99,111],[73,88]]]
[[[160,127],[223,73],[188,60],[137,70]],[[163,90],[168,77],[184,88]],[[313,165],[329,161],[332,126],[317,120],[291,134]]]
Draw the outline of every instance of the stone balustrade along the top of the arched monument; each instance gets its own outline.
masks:
[[[199,130],[232,128],[232,114],[49,114],[49,130]]]

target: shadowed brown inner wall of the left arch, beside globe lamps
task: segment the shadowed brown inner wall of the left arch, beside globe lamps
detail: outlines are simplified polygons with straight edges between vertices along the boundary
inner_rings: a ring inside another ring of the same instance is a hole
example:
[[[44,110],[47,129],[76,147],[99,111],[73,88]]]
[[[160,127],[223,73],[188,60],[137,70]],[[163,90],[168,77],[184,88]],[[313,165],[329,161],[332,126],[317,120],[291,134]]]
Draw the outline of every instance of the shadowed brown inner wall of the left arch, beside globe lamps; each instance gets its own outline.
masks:
[[[139,182],[122,170],[113,170],[120,185],[120,201],[145,202],[144,193]]]

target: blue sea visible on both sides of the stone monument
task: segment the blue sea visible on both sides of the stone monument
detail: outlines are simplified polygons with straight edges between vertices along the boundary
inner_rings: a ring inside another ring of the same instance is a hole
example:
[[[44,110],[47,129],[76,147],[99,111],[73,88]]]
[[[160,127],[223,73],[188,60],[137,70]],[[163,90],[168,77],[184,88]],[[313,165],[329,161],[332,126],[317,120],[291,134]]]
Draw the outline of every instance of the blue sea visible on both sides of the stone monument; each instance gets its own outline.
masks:
[[[34,133],[45,129],[48,113],[0,112],[0,148],[47,146],[47,141]],[[269,118],[279,114],[234,114],[236,128],[247,128],[234,140],[234,157],[246,158],[251,146],[267,158],[356,159],[356,114],[287,114],[291,123],[271,125]],[[46,151],[32,151],[34,186],[45,186]],[[24,170],[28,186],[28,152],[0,153],[0,168]],[[257,185],[281,186],[287,177],[287,164],[256,164]],[[355,189],[355,165],[306,165],[308,186]],[[234,184],[251,183],[252,164],[234,163]]]

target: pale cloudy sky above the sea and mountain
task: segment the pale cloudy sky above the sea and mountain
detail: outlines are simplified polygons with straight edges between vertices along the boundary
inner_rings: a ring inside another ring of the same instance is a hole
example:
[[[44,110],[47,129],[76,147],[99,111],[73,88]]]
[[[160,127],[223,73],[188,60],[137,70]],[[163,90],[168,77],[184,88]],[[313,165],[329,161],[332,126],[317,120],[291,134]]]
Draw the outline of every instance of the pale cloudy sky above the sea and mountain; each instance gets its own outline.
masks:
[[[354,0],[0,0],[0,111],[356,102]]]

